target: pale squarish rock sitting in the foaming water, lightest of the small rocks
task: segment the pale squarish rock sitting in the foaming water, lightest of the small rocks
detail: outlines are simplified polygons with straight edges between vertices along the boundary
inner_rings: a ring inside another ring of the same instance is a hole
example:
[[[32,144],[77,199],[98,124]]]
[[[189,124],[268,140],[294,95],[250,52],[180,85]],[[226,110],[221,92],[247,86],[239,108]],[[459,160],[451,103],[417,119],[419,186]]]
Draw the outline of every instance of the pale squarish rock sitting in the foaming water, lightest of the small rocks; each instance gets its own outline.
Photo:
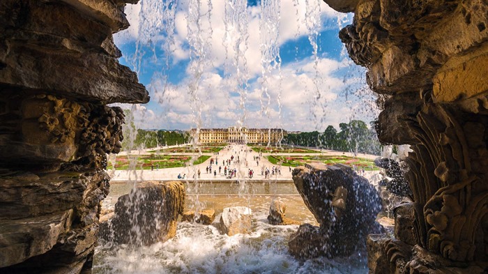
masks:
[[[247,234],[251,231],[251,208],[234,206],[224,208],[220,216],[220,231],[229,236]]]

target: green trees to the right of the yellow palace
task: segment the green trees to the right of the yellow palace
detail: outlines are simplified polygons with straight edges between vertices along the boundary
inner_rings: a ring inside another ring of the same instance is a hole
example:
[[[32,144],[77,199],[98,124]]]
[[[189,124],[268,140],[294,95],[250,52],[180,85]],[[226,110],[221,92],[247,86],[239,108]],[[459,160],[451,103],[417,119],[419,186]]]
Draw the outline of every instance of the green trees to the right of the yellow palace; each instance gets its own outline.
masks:
[[[340,123],[339,128],[340,132],[329,125],[324,132],[289,133],[282,143],[335,151],[381,154],[381,144],[374,131],[374,126],[368,129],[365,122],[353,120],[349,123]]]

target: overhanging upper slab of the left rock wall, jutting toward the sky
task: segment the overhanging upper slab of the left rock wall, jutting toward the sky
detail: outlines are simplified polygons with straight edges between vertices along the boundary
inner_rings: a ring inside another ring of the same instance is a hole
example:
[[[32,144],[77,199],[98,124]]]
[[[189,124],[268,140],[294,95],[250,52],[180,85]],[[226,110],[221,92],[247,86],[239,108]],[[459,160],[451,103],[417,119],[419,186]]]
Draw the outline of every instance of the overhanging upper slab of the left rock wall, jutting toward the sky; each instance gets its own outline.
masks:
[[[102,104],[148,102],[137,75],[116,59],[112,33],[128,27],[125,3],[55,2],[0,3],[0,84]]]

